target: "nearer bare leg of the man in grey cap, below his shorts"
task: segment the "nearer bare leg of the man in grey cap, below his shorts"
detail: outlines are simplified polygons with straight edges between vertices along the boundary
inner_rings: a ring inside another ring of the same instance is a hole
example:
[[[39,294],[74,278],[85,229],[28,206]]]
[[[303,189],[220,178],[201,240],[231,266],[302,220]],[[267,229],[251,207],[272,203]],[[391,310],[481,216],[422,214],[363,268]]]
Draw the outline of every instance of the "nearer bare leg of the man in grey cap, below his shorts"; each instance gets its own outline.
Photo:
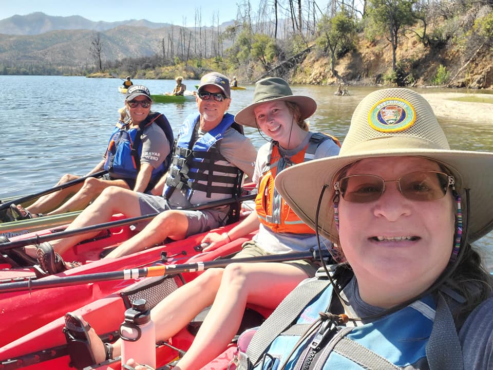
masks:
[[[141,251],[146,247],[162,242],[167,237],[183,239],[188,230],[188,218],[181,211],[164,211],[156,216],[137,235],[113,249],[106,257],[117,258]]]

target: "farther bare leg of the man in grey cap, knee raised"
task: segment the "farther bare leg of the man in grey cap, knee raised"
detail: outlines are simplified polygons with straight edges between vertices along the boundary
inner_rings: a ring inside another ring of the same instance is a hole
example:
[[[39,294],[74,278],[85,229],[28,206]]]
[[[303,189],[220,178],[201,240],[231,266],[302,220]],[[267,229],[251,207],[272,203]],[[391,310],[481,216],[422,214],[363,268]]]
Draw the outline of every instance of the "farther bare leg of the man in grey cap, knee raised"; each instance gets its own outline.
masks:
[[[107,222],[115,213],[123,213],[128,218],[140,216],[137,193],[118,187],[106,188],[96,200],[75,218],[66,230]],[[75,235],[50,242],[55,252],[62,254],[75,244],[97,235],[98,232]],[[26,247],[27,252],[28,247]]]

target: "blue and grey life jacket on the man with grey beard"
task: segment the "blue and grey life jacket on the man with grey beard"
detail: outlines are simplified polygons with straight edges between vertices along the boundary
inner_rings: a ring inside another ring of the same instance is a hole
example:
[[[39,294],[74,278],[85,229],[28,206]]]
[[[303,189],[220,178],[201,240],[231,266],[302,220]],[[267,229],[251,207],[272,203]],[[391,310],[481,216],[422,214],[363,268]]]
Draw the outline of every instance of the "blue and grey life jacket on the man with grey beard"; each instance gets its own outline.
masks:
[[[207,198],[230,198],[238,191],[242,172],[220,153],[223,134],[230,127],[242,133],[234,116],[226,113],[211,131],[198,137],[200,114],[189,115],[180,128],[175,153],[170,166],[163,196],[168,198],[176,189],[192,202],[195,192]]]

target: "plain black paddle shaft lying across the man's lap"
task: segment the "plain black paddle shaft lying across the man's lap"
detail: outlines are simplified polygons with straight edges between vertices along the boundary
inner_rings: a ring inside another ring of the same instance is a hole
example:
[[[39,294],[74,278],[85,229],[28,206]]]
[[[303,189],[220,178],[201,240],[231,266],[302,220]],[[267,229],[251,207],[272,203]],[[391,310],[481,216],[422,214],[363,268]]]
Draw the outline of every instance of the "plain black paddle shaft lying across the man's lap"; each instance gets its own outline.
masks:
[[[245,200],[252,200],[255,199],[256,194],[249,194],[245,195],[239,198],[228,198],[228,199],[221,199],[221,200],[214,200],[211,202],[207,202],[204,204],[199,204],[196,206],[192,207],[187,207],[187,208],[176,208],[175,210],[178,211],[186,211],[186,210],[195,210],[199,211],[202,209],[207,209],[207,208],[213,208],[213,207],[219,207],[219,206],[226,206],[229,204],[233,204],[236,202],[242,202]],[[133,217],[133,218],[125,218],[117,221],[110,221],[104,224],[97,224],[97,225],[91,225],[91,226],[86,226],[80,229],[73,229],[73,230],[66,230],[66,231],[60,231],[57,233],[51,233],[47,235],[36,235],[30,238],[26,239],[21,239],[18,241],[14,242],[7,242],[7,243],[2,243],[0,244],[0,252],[3,252],[5,250],[13,249],[13,248],[18,248],[18,247],[24,247],[26,245],[31,245],[31,244],[40,244],[43,242],[49,242],[54,239],[61,239],[64,237],[69,237],[69,236],[74,236],[74,235],[79,235],[79,234],[85,234],[88,232],[93,232],[93,231],[101,231],[105,230],[111,227],[117,227],[117,226],[124,226],[124,225],[131,225],[138,223],[140,221],[146,221],[153,219],[156,217],[158,213],[151,213],[143,216],[138,216],[138,217]]]

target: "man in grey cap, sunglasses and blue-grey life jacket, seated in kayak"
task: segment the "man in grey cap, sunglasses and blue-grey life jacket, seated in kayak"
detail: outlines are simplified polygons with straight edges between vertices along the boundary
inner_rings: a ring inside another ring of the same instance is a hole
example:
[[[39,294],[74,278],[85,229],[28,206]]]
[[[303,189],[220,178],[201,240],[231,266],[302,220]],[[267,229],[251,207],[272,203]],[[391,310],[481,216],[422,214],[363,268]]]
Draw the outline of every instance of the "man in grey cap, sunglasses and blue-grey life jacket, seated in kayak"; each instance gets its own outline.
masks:
[[[173,209],[236,196],[242,173],[253,176],[257,152],[250,139],[239,132],[242,130],[234,117],[226,113],[231,98],[230,83],[225,76],[217,72],[203,76],[196,103],[198,113],[189,115],[180,128],[167,176],[153,190],[153,194],[162,193],[162,196],[109,187],[67,230],[107,222],[116,213],[137,217],[162,212],[140,233],[108,254],[108,257],[119,257],[162,243],[167,237],[179,240],[225,225],[230,206],[202,211]],[[40,265],[50,274],[72,267],[63,262],[59,253],[91,235],[94,234],[40,244],[36,251]]]

